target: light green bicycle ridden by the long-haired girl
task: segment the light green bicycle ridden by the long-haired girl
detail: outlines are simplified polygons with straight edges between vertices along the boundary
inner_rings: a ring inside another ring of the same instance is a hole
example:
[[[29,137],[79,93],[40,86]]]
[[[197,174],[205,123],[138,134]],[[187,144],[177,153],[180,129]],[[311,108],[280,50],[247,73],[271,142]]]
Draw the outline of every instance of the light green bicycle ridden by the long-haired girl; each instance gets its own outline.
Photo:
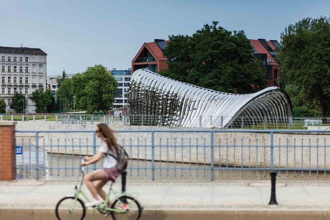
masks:
[[[84,177],[84,168],[81,167],[81,171]],[[142,208],[139,202],[125,193],[116,194],[112,190],[112,185],[110,185],[109,192],[105,198],[103,204],[99,206],[94,206],[92,208],[96,209],[98,212],[103,214],[105,217],[111,215],[113,220],[139,220],[142,213]],[[80,195],[89,202],[87,196],[82,190],[83,178],[80,186],[75,186],[76,193],[74,196],[64,197],[57,204],[55,208],[55,215],[59,220],[83,220],[86,214],[86,208],[83,201],[79,198]],[[108,207],[108,202],[110,194],[113,192],[115,199],[110,207]]]

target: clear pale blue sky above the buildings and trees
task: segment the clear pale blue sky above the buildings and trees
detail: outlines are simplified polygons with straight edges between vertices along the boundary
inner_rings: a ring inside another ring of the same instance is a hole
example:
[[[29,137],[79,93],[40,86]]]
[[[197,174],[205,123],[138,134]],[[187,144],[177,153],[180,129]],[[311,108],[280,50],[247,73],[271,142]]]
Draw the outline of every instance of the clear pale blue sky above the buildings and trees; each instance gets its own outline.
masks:
[[[330,16],[330,0],[0,0],[0,46],[41,48],[47,75],[127,69],[144,42],[191,35],[213,20],[280,41],[289,24]]]

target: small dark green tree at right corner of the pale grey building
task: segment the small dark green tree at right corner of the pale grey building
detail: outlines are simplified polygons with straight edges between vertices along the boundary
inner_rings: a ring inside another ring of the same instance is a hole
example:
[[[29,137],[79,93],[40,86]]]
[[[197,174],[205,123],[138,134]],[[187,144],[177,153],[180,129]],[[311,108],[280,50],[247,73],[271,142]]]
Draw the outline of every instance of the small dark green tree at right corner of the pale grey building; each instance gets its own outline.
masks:
[[[40,88],[32,93],[31,99],[35,102],[36,112],[46,113],[54,110],[55,98],[52,96],[50,90],[44,91]]]

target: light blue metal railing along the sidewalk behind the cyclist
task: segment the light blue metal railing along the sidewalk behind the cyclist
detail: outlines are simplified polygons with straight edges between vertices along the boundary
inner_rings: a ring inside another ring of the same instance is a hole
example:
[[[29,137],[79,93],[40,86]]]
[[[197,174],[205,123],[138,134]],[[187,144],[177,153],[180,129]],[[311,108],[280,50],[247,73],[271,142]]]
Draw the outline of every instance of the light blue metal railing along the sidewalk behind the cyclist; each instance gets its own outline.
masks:
[[[16,130],[17,178],[77,178],[84,155],[101,144],[94,130]],[[128,174],[136,179],[218,180],[265,177],[308,177],[330,171],[330,130],[119,130],[117,142],[130,155]],[[285,144],[283,145],[283,139]],[[102,167],[102,161],[88,167]],[[165,173],[165,175],[164,175]],[[262,175],[263,173],[263,175]],[[70,175],[71,174],[71,175]]]

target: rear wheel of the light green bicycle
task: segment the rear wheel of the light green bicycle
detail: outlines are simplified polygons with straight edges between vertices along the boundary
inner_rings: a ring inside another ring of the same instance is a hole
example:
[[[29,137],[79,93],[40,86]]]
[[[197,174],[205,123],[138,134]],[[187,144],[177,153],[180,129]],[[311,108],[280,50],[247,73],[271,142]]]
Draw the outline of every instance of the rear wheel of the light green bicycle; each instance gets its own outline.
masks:
[[[116,199],[111,205],[112,209],[125,212],[111,212],[113,220],[139,220],[141,217],[141,206],[137,200],[129,196]]]

